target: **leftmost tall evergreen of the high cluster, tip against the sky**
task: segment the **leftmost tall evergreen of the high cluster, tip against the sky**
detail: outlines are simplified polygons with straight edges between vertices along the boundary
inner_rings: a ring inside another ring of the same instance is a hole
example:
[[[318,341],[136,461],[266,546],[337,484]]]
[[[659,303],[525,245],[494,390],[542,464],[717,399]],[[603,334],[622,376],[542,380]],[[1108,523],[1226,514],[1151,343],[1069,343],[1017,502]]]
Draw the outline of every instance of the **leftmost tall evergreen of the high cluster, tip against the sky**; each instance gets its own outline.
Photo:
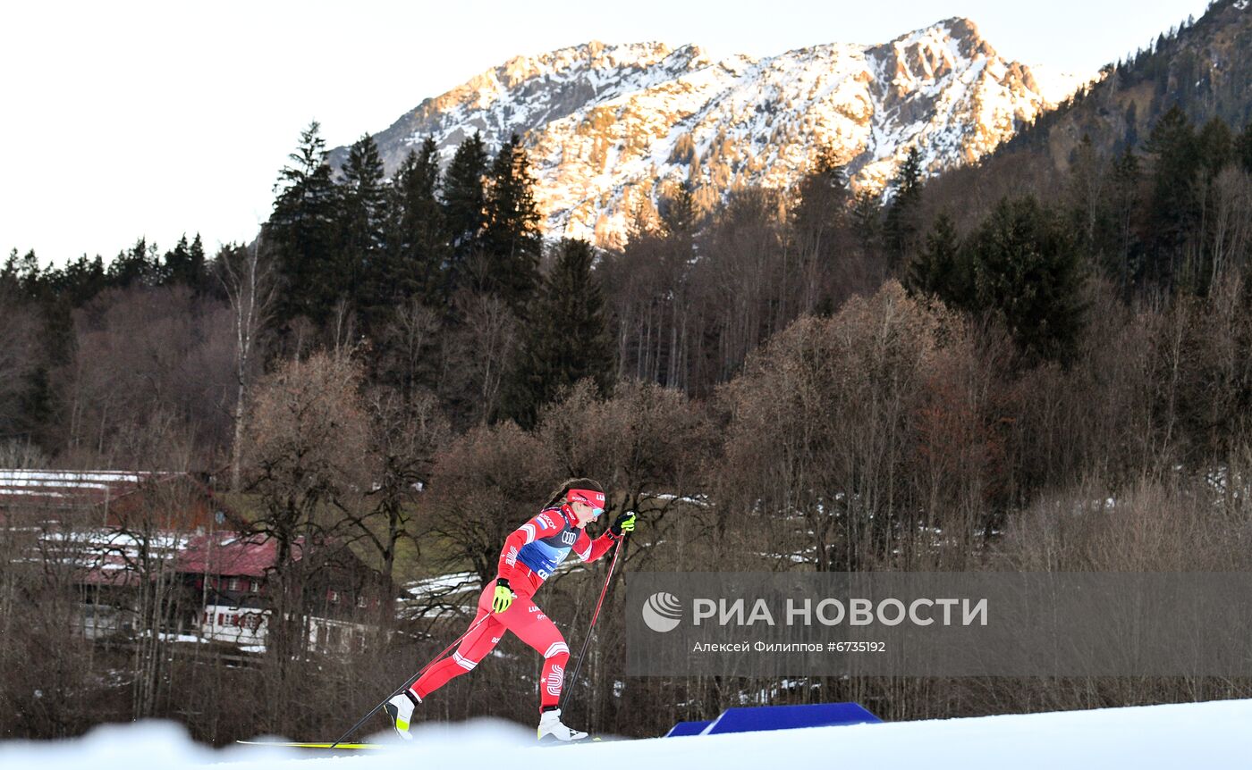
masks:
[[[326,140],[314,120],[300,131],[300,142],[278,172],[277,198],[263,242],[274,250],[285,284],[275,316],[304,315],[317,324],[329,318],[348,280],[338,259],[338,192],[327,164]]]

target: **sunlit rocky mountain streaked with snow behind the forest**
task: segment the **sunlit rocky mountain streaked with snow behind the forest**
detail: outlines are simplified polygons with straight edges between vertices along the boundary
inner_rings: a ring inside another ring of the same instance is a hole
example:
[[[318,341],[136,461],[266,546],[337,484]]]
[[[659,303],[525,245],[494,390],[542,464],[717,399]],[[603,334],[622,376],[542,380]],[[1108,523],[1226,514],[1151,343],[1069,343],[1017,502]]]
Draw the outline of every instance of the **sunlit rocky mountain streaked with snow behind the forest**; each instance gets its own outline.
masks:
[[[910,146],[931,172],[970,162],[1064,95],[1045,96],[967,19],[883,45],[761,59],[588,42],[511,59],[427,99],[376,141],[391,172],[427,136],[447,161],[475,131],[492,149],[523,135],[548,235],[605,242],[679,182],[706,206],[740,185],[786,188],[825,148],[875,190]],[[339,148],[332,162],[344,156]]]

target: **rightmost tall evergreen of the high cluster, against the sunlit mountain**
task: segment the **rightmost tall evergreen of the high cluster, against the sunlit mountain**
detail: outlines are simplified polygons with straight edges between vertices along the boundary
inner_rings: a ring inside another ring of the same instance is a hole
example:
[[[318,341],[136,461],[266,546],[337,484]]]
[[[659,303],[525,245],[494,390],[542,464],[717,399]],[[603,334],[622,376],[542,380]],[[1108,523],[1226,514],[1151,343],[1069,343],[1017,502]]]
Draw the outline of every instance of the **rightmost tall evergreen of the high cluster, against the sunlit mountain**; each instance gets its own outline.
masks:
[[[506,141],[491,164],[487,185],[487,226],[482,245],[487,254],[483,286],[502,296],[520,318],[540,280],[543,235],[535,205],[535,178],[517,134]]]

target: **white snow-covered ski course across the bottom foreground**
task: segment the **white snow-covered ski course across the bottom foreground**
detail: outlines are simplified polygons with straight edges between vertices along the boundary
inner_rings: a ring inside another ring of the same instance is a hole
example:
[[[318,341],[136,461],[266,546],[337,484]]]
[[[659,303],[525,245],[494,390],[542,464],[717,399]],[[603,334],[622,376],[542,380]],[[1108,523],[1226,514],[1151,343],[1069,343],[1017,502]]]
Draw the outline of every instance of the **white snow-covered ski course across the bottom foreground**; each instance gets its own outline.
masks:
[[[545,770],[669,768],[1247,768],[1252,700],[813,728],[776,732],[654,739],[552,749],[516,725],[431,728],[412,746],[327,756],[239,746],[212,751],[169,724],[101,728],[65,742],[0,744],[0,768],[139,770],[218,765],[223,770],[422,770],[533,761]]]

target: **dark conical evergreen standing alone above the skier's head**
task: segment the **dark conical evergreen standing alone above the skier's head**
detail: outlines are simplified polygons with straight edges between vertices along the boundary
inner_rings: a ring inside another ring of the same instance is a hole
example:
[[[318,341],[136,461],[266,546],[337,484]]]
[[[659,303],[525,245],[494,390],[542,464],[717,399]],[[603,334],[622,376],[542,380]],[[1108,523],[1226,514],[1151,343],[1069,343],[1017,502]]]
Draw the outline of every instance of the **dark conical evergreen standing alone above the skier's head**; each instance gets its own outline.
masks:
[[[612,384],[612,341],[600,282],[591,271],[595,252],[583,240],[563,240],[552,271],[527,321],[505,399],[506,416],[523,428],[562,388],[591,378],[606,392]]]

